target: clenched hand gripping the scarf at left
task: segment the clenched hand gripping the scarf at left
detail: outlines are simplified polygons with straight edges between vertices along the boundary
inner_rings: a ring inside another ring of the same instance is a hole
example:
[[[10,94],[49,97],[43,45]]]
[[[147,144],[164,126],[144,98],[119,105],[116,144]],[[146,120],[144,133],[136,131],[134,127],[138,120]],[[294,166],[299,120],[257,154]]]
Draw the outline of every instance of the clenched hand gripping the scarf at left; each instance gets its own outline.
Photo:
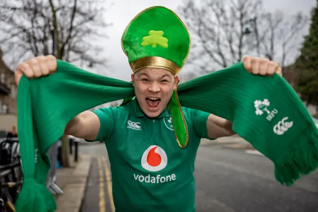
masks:
[[[57,62],[53,55],[34,57],[16,66],[14,72],[15,83],[18,86],[23,75],[29,79],[40,78],[53,74],[56,68]]]

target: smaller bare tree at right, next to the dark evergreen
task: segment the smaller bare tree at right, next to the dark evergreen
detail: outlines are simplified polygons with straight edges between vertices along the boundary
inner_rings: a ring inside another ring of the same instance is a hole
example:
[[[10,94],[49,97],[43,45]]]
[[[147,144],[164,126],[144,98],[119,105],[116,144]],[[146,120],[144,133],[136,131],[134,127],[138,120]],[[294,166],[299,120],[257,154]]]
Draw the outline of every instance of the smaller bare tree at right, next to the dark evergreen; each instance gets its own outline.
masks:
[[[250,21],[249,34],[258,56],[280,63],[282,68],[293,63],[309,19],[302,13],[292,17],[282,11],[263,13]],[[260,34],[260,35],[259,35]]]

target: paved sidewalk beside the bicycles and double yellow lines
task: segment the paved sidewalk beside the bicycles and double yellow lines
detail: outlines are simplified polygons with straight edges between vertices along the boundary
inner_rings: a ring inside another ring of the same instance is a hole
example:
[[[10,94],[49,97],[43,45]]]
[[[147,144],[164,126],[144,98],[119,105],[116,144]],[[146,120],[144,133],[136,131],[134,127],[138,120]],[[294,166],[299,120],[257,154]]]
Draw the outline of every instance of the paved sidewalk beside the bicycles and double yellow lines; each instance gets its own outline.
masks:
[[[71,158],[73,161],[73,158]],[[55,196],[56,212],[79,212],[85,194],[85,186],[91,165],[91,157],[79,155],[78,163],[71,168],[58,169],[56,184],[63,190],[63,195]]]

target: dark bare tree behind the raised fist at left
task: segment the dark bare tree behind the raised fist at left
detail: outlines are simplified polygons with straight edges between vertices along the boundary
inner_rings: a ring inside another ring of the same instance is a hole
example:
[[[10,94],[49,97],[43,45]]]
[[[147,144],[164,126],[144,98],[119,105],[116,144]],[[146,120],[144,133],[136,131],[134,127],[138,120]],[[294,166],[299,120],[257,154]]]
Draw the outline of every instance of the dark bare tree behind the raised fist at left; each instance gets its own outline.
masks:
[[[105,65],[98,41],[110,24],[99,0],[3,0],[0,45],[10,65],[32,56],[54,54],[69,62]],[[96,41],[93,43],[92,41]]]

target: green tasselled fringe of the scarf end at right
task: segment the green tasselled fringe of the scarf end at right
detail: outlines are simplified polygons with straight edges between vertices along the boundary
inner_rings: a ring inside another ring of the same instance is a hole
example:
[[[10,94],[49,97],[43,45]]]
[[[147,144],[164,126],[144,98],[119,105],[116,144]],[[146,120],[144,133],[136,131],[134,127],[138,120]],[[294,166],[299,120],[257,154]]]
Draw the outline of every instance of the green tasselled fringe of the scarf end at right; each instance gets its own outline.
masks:
[[[309,127],[274,164],[276,180],[286,186],[292,186],[296,180],[313,172],[318,167],[317,128]]]

